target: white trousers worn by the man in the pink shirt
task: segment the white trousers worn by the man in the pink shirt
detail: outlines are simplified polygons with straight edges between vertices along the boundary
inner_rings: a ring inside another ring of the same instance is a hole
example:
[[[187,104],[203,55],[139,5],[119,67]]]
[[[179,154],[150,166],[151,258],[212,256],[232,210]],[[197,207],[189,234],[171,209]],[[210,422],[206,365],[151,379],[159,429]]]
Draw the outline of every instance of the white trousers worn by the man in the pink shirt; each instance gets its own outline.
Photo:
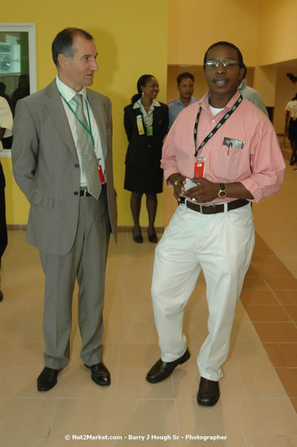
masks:
[[[187,349],[184,307],[201,269],[207,283],[207,339],[197,357],[200,376],[219,381],[229,351],[236,303],[254,249],[251,205],[202,215],[179,205],[155,252],[152,303],[162,361]]]

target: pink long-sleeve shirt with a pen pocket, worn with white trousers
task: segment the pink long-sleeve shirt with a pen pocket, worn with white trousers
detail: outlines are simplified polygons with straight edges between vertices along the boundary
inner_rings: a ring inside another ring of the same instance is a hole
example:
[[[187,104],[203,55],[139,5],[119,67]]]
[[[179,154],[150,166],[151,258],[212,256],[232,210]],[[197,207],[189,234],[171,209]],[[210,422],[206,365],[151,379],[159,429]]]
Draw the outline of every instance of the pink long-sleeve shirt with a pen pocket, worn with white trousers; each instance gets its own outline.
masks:
[[[194,177],[194,123],[202,107],[197,129],[197,148],[204,138],[230,111],[239,98],[237,92],[223,111],[213,116],[209,108],[209,93],[197,103],[184,108],[174,121],[162,149],[161,166],[165,179],[173,173]],[[224,138],[244,142],[243,148],[227,148]],[[260,202],[281,187],[286,165],[278,144],[276,131],[269,119],[254,104],[243,99],[236,111],[217,133],[199,150],[204,155],[204,178],[214,183],[242,183]],[[171,185],[167,182],[167,185]],[[209,203],[230,202],[225,199]]]

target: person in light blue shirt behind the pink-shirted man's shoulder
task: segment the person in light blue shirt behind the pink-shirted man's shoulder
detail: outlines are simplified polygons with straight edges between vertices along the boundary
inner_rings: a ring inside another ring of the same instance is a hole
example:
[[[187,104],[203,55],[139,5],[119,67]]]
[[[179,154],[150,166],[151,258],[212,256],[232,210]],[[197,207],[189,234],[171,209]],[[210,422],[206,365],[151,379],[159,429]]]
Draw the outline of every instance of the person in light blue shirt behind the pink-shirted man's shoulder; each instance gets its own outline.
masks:
[[[194,81],[194,75],[192,75],[192,73],[188,73],[187,71],[180,73],[179,76],[177,76],[177,90],[179,91],[179,98],[168,104],[169,128],[171,128],[172,123],[183,108],[198,101],[198,99],[193,98],[192,96],[194,92]]]

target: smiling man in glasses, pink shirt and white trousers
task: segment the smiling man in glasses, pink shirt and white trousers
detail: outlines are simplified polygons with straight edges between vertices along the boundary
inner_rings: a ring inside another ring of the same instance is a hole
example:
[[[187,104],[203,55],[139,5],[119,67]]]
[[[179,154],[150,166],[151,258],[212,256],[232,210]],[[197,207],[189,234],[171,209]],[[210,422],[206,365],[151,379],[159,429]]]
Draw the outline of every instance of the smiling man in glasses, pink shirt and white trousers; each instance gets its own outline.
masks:
[[[276,193],[285,170],[273,125],[238,91],[243,72],[239,48],[210,46],[204,56],[209,92],[179,113],[162,152],[179,207],[155,253],[152,302],[161,359],[147,381],[166,379],[189,359],[183,312],[202,269],[209,307],[209,334],[197,358],[202,406],[219,400],[236,302],[254,249],[251,202]]]

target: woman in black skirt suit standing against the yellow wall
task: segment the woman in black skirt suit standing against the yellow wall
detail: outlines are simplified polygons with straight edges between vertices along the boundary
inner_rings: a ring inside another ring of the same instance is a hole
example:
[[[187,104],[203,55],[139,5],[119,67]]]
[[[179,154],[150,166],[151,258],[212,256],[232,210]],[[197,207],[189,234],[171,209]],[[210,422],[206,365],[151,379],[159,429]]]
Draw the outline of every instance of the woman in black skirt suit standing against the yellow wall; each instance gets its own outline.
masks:
[[[129,145],[125,159],[125,190],[131,191],[130,207],[134,221],[133,240],[142,243],[139,223],[142,194],[147,197],[147,228],[150,242],[157,242],[155,216],[157,193],[162,192],[163,170],[160,168],[162,144],[168,129],[168,108],[156,101],[159,84],[152,75],[137,81],[138,93],[124,109],[124,125]]]

